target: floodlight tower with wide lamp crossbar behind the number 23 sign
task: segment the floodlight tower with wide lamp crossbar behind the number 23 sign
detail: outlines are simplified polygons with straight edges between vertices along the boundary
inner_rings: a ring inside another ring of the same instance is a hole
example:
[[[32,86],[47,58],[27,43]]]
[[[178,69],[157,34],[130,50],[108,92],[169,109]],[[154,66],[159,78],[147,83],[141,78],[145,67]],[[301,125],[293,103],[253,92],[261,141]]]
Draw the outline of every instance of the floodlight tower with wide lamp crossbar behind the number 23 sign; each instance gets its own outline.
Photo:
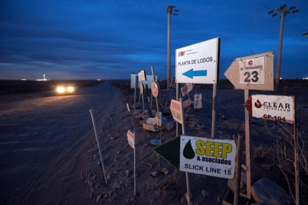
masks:
[[[299,10],[295,8],[296,6],[291,6],[287,8],[287,4],[284,4],[268,12],[268,14],[271,15],[272,17],[277,16],[278,12],[280,12],[280,35],[279,35],[277,70],[276,70],[276,77],[275,77],[276,92],[278,90],[279,81],[280,81],[280,64],[281,64],[281,53],[282,53],[282,35],[283,35],[284,17],[287,16],[287,14],[299,12]]]

